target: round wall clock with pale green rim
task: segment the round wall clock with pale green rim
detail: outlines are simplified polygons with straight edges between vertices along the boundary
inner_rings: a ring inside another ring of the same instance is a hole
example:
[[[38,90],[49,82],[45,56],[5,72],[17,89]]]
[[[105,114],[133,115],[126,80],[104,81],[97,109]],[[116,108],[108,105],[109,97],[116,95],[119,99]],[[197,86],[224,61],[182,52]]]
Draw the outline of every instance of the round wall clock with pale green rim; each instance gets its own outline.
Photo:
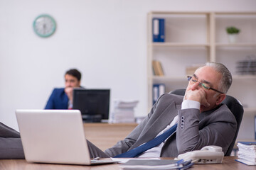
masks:
[[[38,16],[33,22],[33,29],[37,35],[46,38],[54,33],[56,23],[51,16],[41,15]]]

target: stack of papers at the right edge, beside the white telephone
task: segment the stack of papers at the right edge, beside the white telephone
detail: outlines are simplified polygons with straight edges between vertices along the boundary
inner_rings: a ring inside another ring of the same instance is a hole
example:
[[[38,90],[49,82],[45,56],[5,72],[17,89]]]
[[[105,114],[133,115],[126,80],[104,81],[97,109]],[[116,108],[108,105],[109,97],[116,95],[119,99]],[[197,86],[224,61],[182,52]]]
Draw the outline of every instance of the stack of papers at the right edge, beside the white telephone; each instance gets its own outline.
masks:
[[[256,142],[238,142],[238,162],[256,165]]]

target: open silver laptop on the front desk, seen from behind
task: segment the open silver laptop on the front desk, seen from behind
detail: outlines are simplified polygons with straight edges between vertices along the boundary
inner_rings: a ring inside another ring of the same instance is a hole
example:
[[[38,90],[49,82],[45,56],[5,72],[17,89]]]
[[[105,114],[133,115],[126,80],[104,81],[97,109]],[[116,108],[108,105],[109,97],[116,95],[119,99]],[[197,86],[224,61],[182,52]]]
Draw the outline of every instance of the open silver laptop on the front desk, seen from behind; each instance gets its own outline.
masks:
[[[91,160],[78,110],[16,110],[27,162],[110,164]]]

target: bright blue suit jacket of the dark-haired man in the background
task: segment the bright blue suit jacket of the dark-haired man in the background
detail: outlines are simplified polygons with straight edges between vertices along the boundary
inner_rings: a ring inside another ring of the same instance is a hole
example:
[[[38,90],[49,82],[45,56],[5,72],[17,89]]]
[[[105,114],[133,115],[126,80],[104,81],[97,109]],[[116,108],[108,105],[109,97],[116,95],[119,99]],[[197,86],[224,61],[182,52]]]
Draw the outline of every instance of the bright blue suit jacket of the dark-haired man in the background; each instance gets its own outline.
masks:
[[[68,96],[64,88],[53,89],[45,109],[68,109]]]

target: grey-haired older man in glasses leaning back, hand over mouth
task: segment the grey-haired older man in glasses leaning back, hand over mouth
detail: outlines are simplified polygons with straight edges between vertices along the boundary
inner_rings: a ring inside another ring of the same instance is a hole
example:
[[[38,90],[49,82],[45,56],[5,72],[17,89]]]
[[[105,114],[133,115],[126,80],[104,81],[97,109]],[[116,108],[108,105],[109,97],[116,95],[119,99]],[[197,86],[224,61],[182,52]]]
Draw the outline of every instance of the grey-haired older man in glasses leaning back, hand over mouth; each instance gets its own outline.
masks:
[[[220,146],[227,152],[237,123],[233,113],[221,102],[231,84],[232,76],[223,64],[204,64],[188,77],[184,97],[160,96],[142,123],[124,140],[105,152],[88,142],[91,157],[177,157],[207,145]],[[160,144],[142,153],[130,154],[134,148],[171,128],[176,132]]]

